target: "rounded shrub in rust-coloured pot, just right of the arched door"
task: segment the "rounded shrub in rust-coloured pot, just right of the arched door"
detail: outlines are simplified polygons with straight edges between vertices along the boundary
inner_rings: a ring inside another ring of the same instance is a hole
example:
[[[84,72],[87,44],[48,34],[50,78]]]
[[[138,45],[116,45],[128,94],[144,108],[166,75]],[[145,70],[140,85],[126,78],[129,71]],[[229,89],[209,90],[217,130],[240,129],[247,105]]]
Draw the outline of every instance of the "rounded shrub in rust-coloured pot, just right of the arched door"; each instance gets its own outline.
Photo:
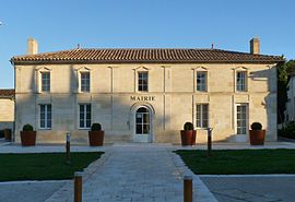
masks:
[[[186,122],[184,124],[184,130],[180,131],[180,138],[181,138],[181,145],[194,145],[196,144],[196,133],[197,131],[193,130],[192,122]]]

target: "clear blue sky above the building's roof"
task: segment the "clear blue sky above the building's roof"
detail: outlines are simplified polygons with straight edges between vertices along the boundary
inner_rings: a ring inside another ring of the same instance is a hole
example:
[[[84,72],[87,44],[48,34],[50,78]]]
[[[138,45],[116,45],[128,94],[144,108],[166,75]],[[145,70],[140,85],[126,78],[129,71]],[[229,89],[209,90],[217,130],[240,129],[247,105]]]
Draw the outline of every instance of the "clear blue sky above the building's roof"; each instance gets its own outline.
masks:
[[[295,58],[294,0],[1,0],[0,88],[13,87],[12,56],[82,48],[215,48]]]

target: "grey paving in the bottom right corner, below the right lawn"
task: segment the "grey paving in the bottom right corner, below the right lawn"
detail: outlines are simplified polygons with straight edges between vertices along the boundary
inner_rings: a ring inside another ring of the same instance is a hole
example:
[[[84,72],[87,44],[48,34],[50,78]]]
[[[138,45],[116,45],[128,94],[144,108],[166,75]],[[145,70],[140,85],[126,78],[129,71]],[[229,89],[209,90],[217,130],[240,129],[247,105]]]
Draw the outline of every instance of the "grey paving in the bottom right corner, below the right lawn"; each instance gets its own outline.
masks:
[[[220,202],[295,201],[295,175],[206,176],[201,179]]]

